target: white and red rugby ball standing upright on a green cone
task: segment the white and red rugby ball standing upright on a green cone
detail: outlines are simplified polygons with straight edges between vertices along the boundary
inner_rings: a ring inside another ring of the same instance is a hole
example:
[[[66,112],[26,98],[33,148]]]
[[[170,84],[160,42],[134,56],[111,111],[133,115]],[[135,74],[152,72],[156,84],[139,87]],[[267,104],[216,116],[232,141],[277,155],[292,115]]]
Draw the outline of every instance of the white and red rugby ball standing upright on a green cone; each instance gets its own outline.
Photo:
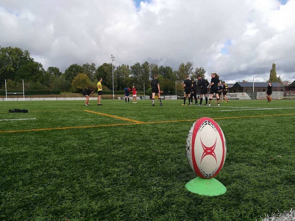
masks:
[[[187,135],[187,159],[203,179],[216,176],[226,158],[226,141],[220,126],[211,118],[198,119]]]

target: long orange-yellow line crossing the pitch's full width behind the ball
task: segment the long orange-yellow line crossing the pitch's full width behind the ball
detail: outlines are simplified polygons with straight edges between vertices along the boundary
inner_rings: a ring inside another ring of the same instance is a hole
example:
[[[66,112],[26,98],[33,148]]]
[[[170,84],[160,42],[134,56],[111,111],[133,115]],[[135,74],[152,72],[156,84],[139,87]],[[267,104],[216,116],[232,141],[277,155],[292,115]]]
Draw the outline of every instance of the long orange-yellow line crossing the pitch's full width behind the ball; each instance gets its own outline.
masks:
[[[267,114],[267,115],[239,116],[239,117],[222,117],[222,118],[212,118],[212,119],[222,120],[222,119],[233,119],[233,118],[275,117],[275,116],[288,116],[288,115],[295,115],[295,113],[293,113],[293,114]],[[189,122],[189,121],[196,121],[196,120],[197,119],[138,122],[138,123],[124,123],[124,124],[103,124],[103,125],[72,126],[72,127],[53,127],[53,128],[40,128],[40,129],[29,129],[29,130],[2,130],[2,131],[0,131],[0,133],[16,133],[16,132],[30,132],[30,131],[44,131],[44,130],[66,130],[66,129],[78,129],[78,128],[94,128],[94,127],[155,124],[155,123]]]

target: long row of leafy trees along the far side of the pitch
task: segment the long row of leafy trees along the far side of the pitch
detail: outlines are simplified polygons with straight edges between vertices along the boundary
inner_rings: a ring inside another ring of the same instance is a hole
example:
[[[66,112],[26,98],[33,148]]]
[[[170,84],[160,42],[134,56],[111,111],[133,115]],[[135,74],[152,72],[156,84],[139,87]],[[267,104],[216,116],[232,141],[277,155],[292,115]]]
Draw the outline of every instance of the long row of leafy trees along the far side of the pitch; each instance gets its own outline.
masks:
[[[182,90],[181,83],[186,75],[196,78],[199,74],[204,76],[206,71],[203,67],[195,68],[192,62],[181,63],[178,70],[173,71],[172,67],[159,66],[158,64],[145,61],[140,64],[129,66],[121,64],[113,66],[112,63],[103,63],[96,68],[95,63],[71,64],[64,72],[58,67],[48,67],[36,62],[28,50],[18,47],[0,46],[0,82],[5,79],[12,82],[30,82],[30,89],[59,89],[61,91],[80,92],[85,87],[96,89],[98,79],[103,78],[104,90],[112,90],[112,68],[114,70],[114,90],[121,91],[125,87],[136,86],[138,90],[148,90],[150,80],[154,74],[158,75],[161,90],[165,94]]]

